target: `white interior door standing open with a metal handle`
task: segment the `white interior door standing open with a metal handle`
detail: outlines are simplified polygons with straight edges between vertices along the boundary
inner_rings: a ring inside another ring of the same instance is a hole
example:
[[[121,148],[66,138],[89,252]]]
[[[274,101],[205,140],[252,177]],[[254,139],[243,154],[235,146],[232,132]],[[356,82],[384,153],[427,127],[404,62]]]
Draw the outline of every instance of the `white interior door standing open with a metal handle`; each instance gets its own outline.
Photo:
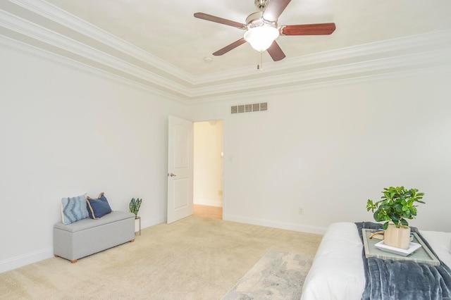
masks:
[[[193,125],[169,116],[168,224],[192,215]]]

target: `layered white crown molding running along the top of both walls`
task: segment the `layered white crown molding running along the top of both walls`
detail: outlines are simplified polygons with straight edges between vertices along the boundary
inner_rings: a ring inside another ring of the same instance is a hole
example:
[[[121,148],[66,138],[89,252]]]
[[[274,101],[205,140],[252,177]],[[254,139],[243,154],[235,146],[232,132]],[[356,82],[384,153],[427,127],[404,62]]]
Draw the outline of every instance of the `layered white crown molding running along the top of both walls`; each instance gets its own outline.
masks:
[[[254,67],[246,67],[194,76],[46,1],[8,1],[58,23],[68,32],[73,30],[89,38],[78,40],[64,35],[61,30],[56,32],[0,10],[0,27],[15,32],[19,43],[30,44],[28,53],[46,59],[53,55],[53,61],[58,63],[66,59],[66,65],[77,65],[76,68],[89,69],[116,80],[121,78],[130,85],[159,91],[165,98],[186,104],[451,64],[451,30],[443,30],[266,63],[265,69],[258,73]],[[102,49],[89,44],[90,40],[100,42]],[[108,49],[120,54],[112,55]]]

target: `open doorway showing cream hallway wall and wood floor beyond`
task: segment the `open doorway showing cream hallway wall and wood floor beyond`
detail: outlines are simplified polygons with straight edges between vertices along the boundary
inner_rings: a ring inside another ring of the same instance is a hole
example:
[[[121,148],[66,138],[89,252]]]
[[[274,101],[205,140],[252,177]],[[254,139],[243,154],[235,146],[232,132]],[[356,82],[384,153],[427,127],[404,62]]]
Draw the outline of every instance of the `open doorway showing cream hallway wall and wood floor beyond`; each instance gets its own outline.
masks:
[[[223,218],[223,140],[223,120],[194,123],[194,215]]]

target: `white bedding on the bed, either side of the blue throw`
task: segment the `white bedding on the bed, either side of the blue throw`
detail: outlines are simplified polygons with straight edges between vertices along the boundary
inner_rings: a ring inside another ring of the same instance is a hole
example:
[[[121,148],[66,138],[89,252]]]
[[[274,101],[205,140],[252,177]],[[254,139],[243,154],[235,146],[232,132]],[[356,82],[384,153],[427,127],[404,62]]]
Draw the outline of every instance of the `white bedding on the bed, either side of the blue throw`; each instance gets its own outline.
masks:
[[[441,268],[450,272],[448,266],[451,266],[451,232],[419,232],[435,251],[441,261]],[[362,239],[356,223],[331,224],[304,281],[302,300],[362,299],[364,292],[367,292],[365,277],[368,275],[365,273],[366,262],[362,259],[362,251]],[[445,280],[446,287],[451,283],[449,278]],[[448,299],[449,293],[446,293],[445,297],[432,298]]]

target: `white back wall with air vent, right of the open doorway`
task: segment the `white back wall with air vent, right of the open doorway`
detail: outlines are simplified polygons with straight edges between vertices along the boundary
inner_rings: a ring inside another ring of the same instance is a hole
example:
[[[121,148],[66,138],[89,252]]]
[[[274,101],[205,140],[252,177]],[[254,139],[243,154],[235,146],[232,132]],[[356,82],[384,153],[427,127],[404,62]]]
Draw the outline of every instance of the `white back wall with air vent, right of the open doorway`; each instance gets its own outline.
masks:
[[[451,232],[450,75],[448,67],[199,104],[194,120],[224,120],[224,219],[323,232],[373,220],[366,200],[404,185],[426,193],[410,225]],[[267,112],[230,114],[263,101]]]

